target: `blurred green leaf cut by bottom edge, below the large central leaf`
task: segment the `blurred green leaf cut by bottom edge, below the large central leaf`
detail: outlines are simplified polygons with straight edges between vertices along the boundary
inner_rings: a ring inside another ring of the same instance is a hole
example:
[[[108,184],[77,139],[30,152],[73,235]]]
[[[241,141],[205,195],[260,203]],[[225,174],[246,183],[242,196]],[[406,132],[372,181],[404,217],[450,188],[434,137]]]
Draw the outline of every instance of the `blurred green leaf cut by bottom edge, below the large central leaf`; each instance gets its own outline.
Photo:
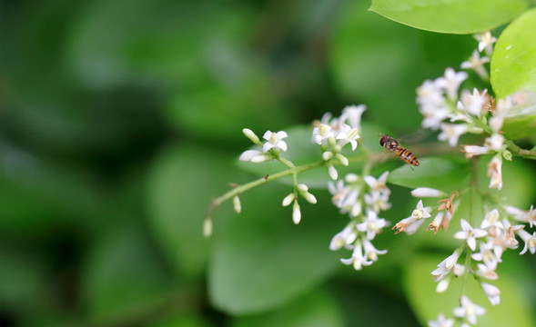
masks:
[[[285,306],[253,316],[238,317],[233,327],[344,326],[339,303],[327,292],[310,292]]]

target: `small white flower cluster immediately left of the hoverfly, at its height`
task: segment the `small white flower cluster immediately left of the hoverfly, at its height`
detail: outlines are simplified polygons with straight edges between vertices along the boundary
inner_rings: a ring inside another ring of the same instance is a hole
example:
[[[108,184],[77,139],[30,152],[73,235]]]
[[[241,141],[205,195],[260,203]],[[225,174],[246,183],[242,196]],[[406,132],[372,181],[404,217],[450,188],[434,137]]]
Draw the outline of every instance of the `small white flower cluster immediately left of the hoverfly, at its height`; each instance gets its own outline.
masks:
[[[341,154],[342,147],[350,144],[352,151],[358,147],[361,115],[366,109],[364,104],[349,105],[339,117],[326,113],[313,129],[312,141],[320,145],[322,158],[328,162],[329,177],[334,181],[339,178],[339,173],[333,166],[333,161],[348,166],[348,158]]]

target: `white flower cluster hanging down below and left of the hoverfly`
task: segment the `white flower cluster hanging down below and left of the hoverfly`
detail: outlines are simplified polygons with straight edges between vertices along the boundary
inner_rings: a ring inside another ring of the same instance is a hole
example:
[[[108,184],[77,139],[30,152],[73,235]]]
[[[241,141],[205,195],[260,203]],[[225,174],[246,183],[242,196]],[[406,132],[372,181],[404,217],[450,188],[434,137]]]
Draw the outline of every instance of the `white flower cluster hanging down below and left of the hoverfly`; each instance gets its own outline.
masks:
[[[389,172],[382,173],[378,179],[350,173],[345,181],[329,183],[333,203],[341,213],[349,213],[350,217],[350,223],[331,239],[329,249],[337,251],[344,247],[353,250],[349,259],[340,261],[352,264],[355,270],[371,265],[378,261],[379,254],[387,253],[387,250],[376,249],[372,240],[389,223],[379,218],[379,213],[390,207],[390,190],[386,185],[388,176]]]

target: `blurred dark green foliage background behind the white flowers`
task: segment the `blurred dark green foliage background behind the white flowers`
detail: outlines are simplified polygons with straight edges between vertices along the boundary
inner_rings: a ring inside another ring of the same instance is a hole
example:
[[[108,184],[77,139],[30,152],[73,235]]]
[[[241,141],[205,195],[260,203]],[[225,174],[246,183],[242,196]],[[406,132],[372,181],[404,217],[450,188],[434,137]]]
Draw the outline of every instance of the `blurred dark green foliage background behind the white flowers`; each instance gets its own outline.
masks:
[[[339,263],[350,253],[328,250],[348,218],[326,190],[294,226],[280,208],[288,186],[263,185],[201,235],[211,197],[255,178],[236,164],[243,127],[263,134],[367,104],[378,132],[411,133],[415,88],[476,47],[368,7],[1,1],[0,324],[412,326],[449,314],[455,300],[419,308],[450,234],[384,233],[375,244],[389,253],[354,272]],[[521,207],[534,203],[533,171],[505,163]],[[415,205],[407,193],[393,186],[391,223]],[[504,262],[501,290],[517,300],[490,310],[534,312],[533,257]]]

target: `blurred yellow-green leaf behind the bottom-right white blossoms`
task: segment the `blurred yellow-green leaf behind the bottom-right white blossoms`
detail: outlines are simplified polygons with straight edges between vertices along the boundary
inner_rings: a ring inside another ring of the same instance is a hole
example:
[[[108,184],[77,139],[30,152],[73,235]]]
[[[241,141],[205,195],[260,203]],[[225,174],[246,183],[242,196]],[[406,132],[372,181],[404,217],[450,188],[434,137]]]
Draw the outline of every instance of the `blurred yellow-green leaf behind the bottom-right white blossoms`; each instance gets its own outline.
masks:
[[[466,279],[463,277],[454,279],[446,292],[437,293],[436,283],[430,274],[448,255],[450,253],[444,256],[421,254],[405,266],[404,289],[413,311],[423,326],[430,320],[436,320],[440,312],[452,317],[452,309],[460,306],[460,294]],[[490,304],[480,285],[473,278],[467,279],[464,293],[471,302],[486,309],[486,314],[478,317],[479,325],[534,326],[529,301],[521,292],[523,286],[517,282],[518,273],[514,275],[511,272],[501,272],[499,268],[499,274],[500,278],[497,281],[490,282],[501,289],[501,303],[496,306]]]

